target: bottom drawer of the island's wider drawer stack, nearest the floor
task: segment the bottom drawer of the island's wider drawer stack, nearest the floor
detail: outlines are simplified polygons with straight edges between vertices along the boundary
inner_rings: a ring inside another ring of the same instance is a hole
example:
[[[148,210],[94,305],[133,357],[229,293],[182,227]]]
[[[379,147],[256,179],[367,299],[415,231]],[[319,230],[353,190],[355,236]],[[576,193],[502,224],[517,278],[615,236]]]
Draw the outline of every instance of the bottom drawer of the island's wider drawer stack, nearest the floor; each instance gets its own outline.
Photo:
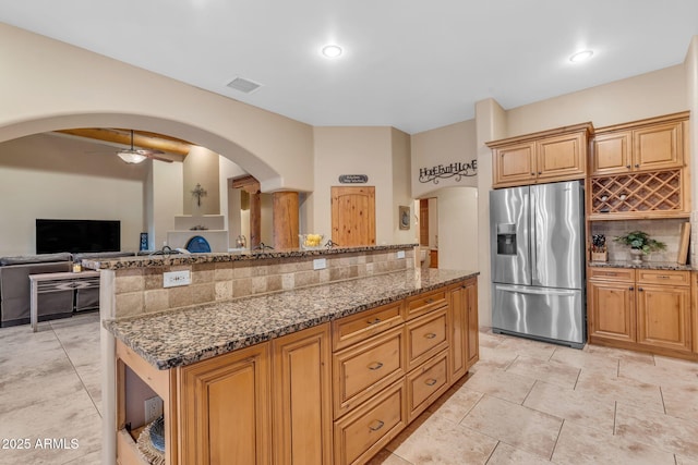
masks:
[[[335,464],[363,464],[407,426],[405,380],[335,421]]]

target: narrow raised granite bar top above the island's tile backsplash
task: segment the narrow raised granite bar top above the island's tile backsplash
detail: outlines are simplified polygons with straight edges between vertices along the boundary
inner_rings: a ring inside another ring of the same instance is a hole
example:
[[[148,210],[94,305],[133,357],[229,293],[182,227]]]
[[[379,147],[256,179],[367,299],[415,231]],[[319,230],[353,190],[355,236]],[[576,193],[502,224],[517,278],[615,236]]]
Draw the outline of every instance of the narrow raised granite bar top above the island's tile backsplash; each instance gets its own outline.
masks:
[[[180,253],[163,253],[155,252],[151,255],[133,255],[129,257],[118,258],[93,258],[84,259],[83,267],[93,270],[118,270],[127,268],[148,268],[177,265],[195,265],[224,261],[241,261],[241,260],[266,260],[274,258],[302,258],[315,256],[332,256],[339,254],[361,254],[366,252],[380,250],[408,250],[417,247],[418,244],[392,244],[392,245],[368,245],[360,247],[318,247],[312,249],[289,248],[264,250],[242,250],[242,252],[218,252],[207,254],[180,254]]]

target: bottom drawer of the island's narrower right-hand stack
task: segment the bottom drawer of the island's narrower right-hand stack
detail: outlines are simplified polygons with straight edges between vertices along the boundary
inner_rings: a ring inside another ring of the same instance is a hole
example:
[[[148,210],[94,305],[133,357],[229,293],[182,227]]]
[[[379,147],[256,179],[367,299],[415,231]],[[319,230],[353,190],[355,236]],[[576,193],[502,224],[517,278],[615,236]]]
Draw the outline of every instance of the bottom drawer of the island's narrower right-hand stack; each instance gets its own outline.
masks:
[[[432,402],[448,389],[448,353],[441,354],[424,363],[407,376],[408,421],[424,412]]]

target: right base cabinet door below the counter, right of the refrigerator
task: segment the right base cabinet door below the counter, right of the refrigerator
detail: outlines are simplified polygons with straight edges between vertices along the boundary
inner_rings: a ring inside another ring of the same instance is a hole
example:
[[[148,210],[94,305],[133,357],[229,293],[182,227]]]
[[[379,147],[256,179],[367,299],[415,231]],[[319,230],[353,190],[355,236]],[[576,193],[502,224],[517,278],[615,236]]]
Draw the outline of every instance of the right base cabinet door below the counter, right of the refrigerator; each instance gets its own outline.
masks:
[[[690,290],[639,284],[638,342],[653,347],[690,352]]]

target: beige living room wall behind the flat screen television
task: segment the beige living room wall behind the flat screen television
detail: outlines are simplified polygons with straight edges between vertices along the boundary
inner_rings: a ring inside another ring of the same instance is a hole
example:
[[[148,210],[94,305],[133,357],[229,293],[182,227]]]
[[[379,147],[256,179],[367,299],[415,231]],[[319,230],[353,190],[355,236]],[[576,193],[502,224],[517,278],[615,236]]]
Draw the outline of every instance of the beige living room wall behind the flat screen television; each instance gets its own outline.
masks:
[[[125,164],[77,139],[38,134],[0,150],[0,256],[36,252],[37,218],[120,220],[121,247],[137,250],[147,163]]]

